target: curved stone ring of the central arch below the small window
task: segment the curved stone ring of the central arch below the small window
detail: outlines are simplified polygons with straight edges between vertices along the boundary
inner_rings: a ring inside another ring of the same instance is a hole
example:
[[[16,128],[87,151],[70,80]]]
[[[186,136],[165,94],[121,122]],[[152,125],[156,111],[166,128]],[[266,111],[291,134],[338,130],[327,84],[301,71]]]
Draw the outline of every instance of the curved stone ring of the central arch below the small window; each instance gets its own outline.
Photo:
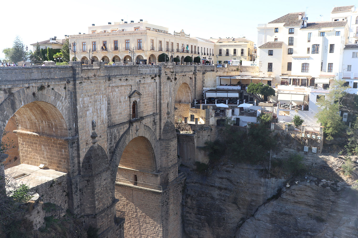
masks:
[[[160,144],[157,140],[153,130],[146,125],[135,125],[132,124],[127,130],[121,135],[118,139],[115,148],[113,150],[113,155],[111,157],[111,167],[112,167],[112,179],[115,180],[117,168],[120,164],[121,156],[126,148],[126,146],[136,137],[146,138],[150,145],[153,148],[154,153],[154,163],[155,163],[155,172],[159,170],[160,163]]]

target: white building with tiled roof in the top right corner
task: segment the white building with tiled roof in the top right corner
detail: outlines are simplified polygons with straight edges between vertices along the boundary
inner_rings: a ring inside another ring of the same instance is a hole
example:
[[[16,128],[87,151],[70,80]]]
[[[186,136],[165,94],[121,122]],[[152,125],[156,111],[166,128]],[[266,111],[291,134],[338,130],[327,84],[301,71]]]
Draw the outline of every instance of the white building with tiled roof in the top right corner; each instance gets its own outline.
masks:
[[[354,5],[333,7],[331,21],[347,21],[349,28],[349,43],[358,43],[358,11]]]

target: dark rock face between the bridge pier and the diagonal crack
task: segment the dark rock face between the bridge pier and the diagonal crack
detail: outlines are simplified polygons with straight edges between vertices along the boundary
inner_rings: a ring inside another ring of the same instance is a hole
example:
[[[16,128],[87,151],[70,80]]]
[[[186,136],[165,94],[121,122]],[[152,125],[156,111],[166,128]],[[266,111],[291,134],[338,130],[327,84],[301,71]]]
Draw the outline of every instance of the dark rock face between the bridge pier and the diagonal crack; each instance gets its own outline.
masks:
[[[184,236],[235,237],[238,227],[285,184],[265,179],[259,166],[222,166],[209,176],[180,167],[187,177],[183,194]]]

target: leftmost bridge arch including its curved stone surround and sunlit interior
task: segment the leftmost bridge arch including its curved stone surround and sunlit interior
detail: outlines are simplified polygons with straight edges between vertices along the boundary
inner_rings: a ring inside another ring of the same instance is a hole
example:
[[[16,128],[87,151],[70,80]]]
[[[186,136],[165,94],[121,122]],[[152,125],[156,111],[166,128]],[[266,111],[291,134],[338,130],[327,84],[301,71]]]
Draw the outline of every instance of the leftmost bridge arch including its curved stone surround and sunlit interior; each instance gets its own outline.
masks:
[[[19,162],[33,166],[45,164],[50,169],[69,173],[69,103],[53,90],[32,91],[20,89],[0,103],[0,130],[8,131],[1,139],[5,141],[9,137],[18,145],[18,153],[13,154],[19,158],[18,162],[7,167]]]

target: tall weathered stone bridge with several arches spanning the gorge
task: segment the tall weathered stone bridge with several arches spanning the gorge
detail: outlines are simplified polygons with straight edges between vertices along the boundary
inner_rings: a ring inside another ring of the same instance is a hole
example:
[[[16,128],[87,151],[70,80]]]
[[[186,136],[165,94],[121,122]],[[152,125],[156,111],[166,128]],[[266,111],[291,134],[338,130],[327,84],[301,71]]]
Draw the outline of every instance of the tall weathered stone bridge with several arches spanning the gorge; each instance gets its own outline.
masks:
[[[217,74],[238,72],[80,62],[0,68],[0,129],[16,145],[5,168],[45,164],[67,173],[68,208],[101,237],[123,236],[118,209],[125,237],[182,237],[174,117]]]

